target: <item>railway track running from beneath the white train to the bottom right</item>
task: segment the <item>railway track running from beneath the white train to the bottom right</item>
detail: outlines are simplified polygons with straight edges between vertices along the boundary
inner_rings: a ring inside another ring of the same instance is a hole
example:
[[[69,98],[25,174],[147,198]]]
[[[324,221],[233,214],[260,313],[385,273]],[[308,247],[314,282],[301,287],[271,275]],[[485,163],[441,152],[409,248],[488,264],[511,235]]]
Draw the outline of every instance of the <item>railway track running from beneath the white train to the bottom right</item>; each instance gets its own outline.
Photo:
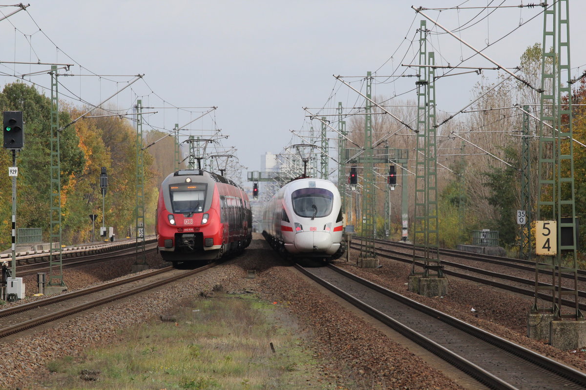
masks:
[[[586,375],[341,270],[297,269],[494,389],[584,389]]]

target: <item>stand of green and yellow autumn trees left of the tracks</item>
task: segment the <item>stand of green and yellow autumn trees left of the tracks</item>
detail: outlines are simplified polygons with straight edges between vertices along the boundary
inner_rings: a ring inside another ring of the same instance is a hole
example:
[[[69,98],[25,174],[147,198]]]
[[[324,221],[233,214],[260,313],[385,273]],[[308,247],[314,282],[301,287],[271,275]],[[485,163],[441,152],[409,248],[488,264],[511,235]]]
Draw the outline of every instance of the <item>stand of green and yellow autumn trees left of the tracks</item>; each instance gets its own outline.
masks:
[[[106,226],[113,226],[117,237],[134,234],[137,133],[128,119],[104,117],[80,119],[70,126],[71,118],[88,110],[60,103],[60,168],[62,201],[62,244],[91,240],[91,219],[97,214],[101,225],[102,199],[100,168],[108,170],[105,198]],[[25,121],[25,147],[18,154],[17,227],[40,227],[48,241],[50,199],[50,99],[35,87],[14,82],[0,93],[2,111],[22,111]],[[145,217],[154,215],[155,188],[153,157],[145,153]],[[0,170],[12,165],[11,154],[0,151]],[[0,249],[11,243],[12,184],[8,175],[0,175]],[[153,218],[147,219],[147,233],[154,232]]]

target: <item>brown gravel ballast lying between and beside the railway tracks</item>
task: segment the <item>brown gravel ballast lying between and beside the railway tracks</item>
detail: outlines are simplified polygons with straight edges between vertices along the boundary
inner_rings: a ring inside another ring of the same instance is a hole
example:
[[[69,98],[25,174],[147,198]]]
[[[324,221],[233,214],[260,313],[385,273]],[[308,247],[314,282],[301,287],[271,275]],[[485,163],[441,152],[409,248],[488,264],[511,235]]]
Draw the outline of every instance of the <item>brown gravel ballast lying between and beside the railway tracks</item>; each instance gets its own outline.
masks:
[[[268,245],[259,237],[255,235],[255,240],[241,256],[203,275],[176,282],[165,294],[152,292],[128,299],[66,320],[50,335],[42,332],[22,337],[9,348],[5,345],[0,353],[4,363],[0,387],[40,388],[38,379],[50,375],[43,366],[46,361],[77,356],[94,344],[114,342],[118,337],[116,330],[158,317],[185,299],[210,294],[214,285],[220,284],[226,290],[254,289],[267,301],[277,302],[283,310],[296,315],[301,329],[308,335],[308,345],[324,362],[323,381],[340,385],[350,381],[356,385],[352,388],[357,389],[462,389],[368,322],[323,295],[268,250]],[[352,253],[354,260],[356,256]],[[161,265],[157,254],[149,255],[148,261],[154,267]],[[120,270],[98,265],[66,271],[65,280],[70,290],[86,287],[130,272],[132,263],[134,258],[121,261]],[[383,267],[377,270],[361,270],[352,265],[342,267],[586,371],[585,357],[580,351],[560,351],[524,336],[531,303],[528,299],[456,279],[450,280],[448,295],[444,298],[425,298],[407,292],[410,265],[384,259],[380,263]],[[257,278],[247,279],[247,270],[257,270]],[[169,296],[173,299],[168,299]],[[470,312],[472,307],[477,310],[475,313]]]

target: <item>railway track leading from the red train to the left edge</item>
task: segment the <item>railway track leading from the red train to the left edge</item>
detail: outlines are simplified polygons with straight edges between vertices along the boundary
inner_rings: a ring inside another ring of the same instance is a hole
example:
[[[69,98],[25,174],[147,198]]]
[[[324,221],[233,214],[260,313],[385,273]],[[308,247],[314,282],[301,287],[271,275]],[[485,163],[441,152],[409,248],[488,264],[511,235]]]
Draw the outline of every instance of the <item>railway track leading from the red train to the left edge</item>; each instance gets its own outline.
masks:
[[[217,264],[208,264],[195,270],[177,270],[173,267],[160,268],[95,287],[49,296],[38,301],[0,310],[0,340],[10,341],[15,335],[36,326],[140,294],[205,271]]]

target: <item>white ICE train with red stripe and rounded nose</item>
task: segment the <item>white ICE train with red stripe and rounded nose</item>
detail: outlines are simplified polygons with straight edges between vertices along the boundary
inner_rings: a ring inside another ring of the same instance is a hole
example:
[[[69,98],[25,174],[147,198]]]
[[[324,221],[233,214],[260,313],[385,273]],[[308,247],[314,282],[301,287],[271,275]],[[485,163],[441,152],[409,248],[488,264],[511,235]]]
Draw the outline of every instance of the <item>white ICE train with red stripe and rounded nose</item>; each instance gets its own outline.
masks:
[[[286,257],[335,260],[345,251],[342,230],[342,201],[328,180],[288,182],[264,208],[263,236]]]

